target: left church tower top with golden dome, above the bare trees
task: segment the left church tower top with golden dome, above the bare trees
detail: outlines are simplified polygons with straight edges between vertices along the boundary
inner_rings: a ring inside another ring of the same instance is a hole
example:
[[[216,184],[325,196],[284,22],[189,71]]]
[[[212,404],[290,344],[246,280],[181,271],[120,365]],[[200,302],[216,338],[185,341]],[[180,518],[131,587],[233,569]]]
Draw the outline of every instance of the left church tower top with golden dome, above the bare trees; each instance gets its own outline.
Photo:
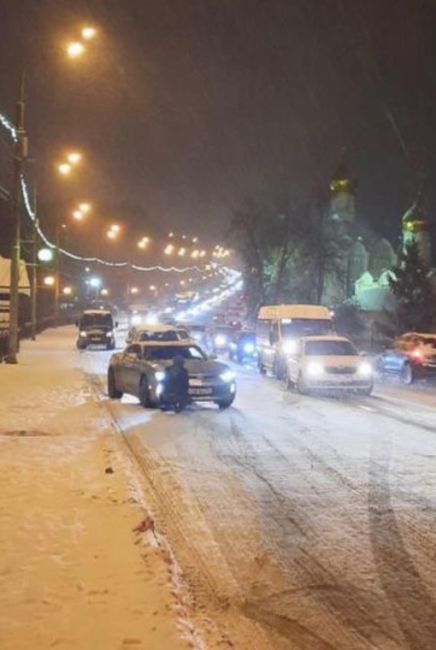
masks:
[[[355,184],[344,162],[330,181],[330,226],[343,235],[349,234],[356,216]]]

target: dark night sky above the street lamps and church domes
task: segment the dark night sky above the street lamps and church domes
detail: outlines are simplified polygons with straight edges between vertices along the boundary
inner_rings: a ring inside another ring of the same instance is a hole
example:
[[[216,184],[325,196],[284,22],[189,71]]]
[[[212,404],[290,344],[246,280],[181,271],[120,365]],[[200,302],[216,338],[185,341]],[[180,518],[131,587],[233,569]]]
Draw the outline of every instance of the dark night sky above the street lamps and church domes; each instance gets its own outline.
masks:
[[[359,218],[398,236],[424,179],[435,211],[436,3],[431,0],[0,2],[0,110],[28,79],[29,176],[41,205],[75,197],[144,232],[219,238],[251,198],[327,186],[344,147]],[[71,64],[65,40],[100,31]],[[68,188],[53,163],[87,153]],[[0,183],[7,177],[0,147]]]

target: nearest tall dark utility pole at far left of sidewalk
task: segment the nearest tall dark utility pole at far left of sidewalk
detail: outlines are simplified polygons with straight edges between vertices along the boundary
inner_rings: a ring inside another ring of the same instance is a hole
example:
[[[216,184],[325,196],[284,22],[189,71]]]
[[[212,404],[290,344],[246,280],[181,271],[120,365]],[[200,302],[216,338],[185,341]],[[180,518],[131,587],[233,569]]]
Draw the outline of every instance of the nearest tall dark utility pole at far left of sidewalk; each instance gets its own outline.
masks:
[[[27,153],[27,139],[24,131],[24,65],[21,64],[20,81],[16,107],[16,142],[14,146],[14,177],[12,189],[12,218],[15,224],[14,242],[11,252],[11,278],[9,294],[9,342],[6,363],[17,363],[19,348],[19,288],[21,256],[21,179],[24,159]]]

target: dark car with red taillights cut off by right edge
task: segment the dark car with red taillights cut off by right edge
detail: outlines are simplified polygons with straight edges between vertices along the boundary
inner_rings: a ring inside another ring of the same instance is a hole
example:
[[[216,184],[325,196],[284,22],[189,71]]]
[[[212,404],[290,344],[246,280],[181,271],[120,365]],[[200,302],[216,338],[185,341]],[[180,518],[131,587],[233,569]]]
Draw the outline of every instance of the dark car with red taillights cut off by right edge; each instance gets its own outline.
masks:
[[[380,375],[397,375],[404,384],[436,372],[436,334],[408,332],[377,359]]]

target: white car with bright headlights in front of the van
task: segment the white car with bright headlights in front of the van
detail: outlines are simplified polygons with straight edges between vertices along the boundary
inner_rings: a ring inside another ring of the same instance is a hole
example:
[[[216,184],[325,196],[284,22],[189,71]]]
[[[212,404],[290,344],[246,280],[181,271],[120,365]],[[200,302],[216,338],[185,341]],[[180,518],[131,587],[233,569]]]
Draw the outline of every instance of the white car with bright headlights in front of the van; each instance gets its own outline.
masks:
[[[300,393],[340,390],[370,395],[374,385],[371,363],[343,336],[301,338],[288,355],[287,375]]]

